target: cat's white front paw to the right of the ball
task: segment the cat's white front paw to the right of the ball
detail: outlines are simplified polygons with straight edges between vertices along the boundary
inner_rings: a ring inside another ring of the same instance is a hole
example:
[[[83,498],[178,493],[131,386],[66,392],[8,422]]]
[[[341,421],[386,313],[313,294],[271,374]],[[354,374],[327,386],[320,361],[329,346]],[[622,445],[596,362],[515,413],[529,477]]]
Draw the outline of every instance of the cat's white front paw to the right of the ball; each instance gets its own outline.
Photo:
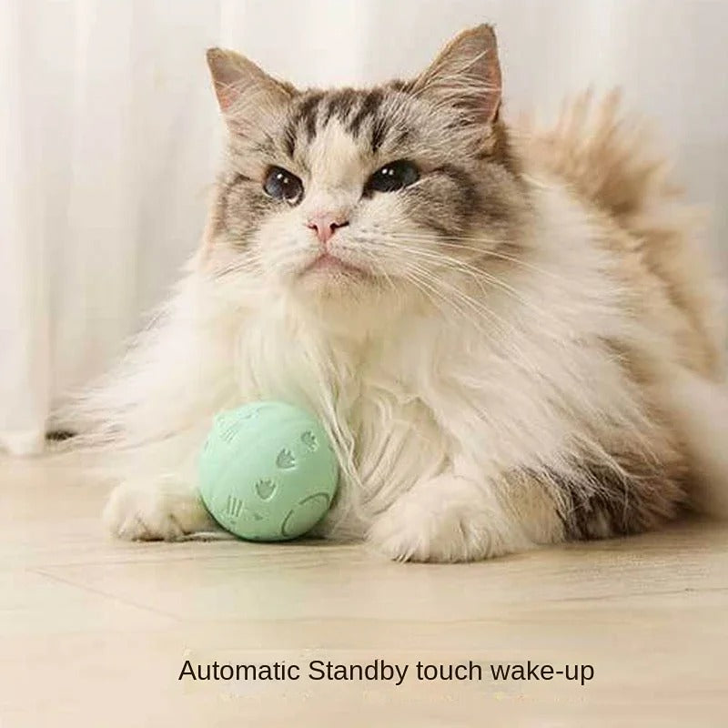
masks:
[[[478,561],[505,548],[483,495],[468,480],[439,476],[416,485],[379,516],[369,543],[394,561]]]

